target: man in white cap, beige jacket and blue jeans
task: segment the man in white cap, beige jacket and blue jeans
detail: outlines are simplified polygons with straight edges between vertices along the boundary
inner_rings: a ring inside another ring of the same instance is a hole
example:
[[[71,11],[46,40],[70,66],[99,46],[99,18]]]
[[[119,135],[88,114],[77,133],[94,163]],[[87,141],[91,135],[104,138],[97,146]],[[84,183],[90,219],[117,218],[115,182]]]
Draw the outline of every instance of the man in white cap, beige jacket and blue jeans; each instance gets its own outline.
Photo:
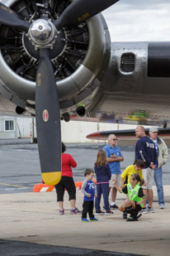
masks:
[[[158,162],[154,169],[154,181],[157,186],[158,192],[158,205],[160,209],[164,209],[164,196],[163,196],[163,165],[168,161],[168,147],[162,138],[158,138],[158,128],[149,128],[149,136],[156,146],[158,155]]]

